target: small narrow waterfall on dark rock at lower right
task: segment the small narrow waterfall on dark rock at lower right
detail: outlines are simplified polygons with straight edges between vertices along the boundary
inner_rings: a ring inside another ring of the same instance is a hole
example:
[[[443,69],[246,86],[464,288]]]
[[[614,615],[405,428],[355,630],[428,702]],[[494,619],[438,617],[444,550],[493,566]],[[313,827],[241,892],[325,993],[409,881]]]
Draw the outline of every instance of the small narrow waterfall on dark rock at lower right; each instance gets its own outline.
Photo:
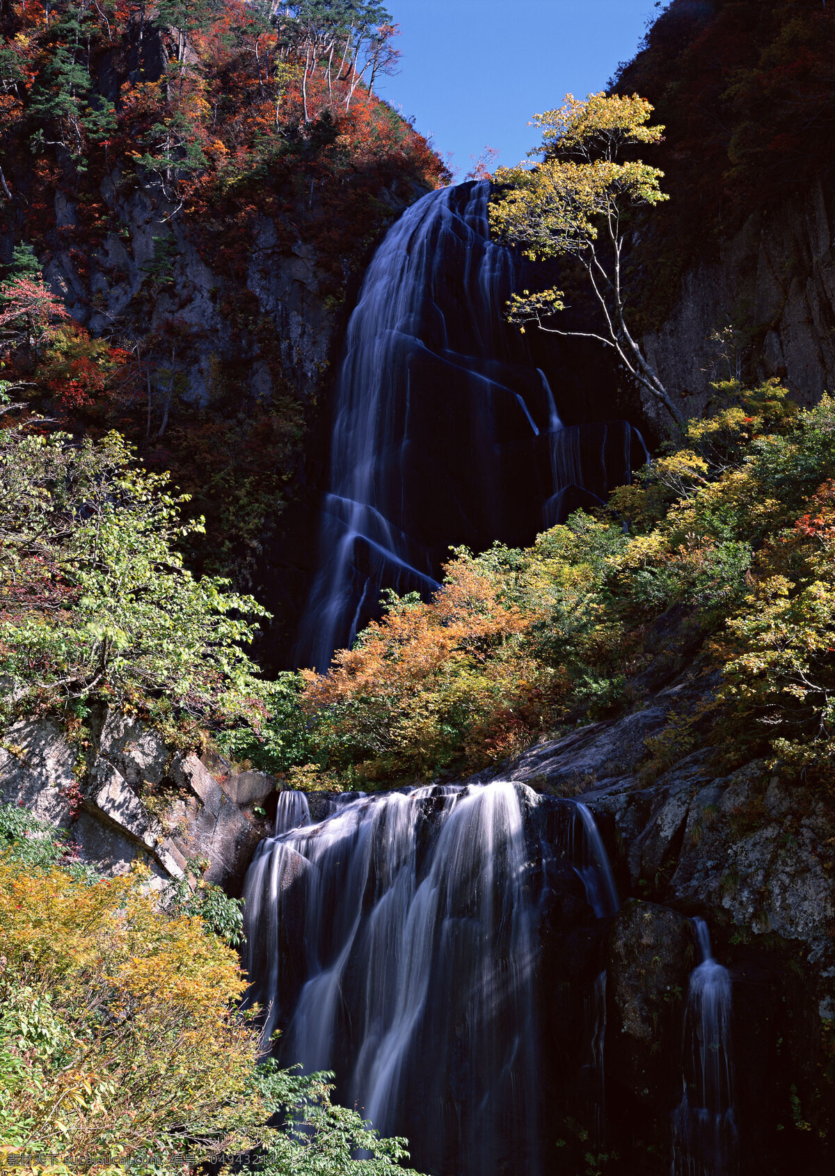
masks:
[[[684,1015],[683,1094],[673,1116],[673,1176],[733,1176],[734,1116],[732,984],[713,957],[710,933],[693,920],[701,962],[690,974]]]

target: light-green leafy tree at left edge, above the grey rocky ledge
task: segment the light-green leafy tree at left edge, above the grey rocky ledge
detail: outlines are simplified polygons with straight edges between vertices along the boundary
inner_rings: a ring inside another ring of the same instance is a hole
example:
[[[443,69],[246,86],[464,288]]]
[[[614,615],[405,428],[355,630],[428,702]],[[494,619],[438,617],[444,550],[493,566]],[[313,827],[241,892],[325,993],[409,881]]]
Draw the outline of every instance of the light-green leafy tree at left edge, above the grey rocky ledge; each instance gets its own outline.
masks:
[[[248,619],[267,614],[183,567],[176,544],[202,522],[182,520],[185,499],[167,486],[118,434],[2,435],[0,575],[16,615],[0,623],[0,671],[20,706],[103,690],[201,715],[247,710],[258,694]]]

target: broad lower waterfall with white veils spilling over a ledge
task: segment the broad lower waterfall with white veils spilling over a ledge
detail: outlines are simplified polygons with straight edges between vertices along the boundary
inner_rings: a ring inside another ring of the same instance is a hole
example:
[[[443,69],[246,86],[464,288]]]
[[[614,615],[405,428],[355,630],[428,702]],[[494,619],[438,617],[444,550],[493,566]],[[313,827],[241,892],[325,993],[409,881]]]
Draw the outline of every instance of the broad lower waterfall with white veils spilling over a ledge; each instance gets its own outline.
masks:
[[[506,782],[348,799],[262,842],[249,868],[245,964],[267,1035],[283,1029],[286,1064],[335,1070],[340,1096],[406,1135],[421,1170],[542,1170],[546,838],[589,897],[616,904],[584,814]],[[602,1087],[604,980],[596,991]]]

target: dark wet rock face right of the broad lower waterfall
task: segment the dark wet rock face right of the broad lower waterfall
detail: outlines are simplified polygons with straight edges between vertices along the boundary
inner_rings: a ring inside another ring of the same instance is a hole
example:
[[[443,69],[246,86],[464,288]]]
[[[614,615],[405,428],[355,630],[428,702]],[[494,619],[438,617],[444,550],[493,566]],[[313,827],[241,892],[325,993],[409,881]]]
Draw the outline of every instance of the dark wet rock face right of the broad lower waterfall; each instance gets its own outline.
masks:
[[[709,748],[647,781],[644,740],[663,729],[680,694],[674,687],[622,720],[539,743],[501,769],[502,779],[582,800],[621,894],[634,896],[602,944],[587,935],[584,951],[567,951],[584,983],[595,968],[606,970],[608,1145],[622,1151],[617,1171],[670,1171],[688,977],[699,963],[690,916],[700,915],[729,977],[739,1154],[729,1147],[723,1168],[682,1168],[680,1158],[675,1176],[721,1176],[737,1163],[742,1174],[782,1176],[799,1156],[822,1176],[831,1170],[835,1109],[833,811],[760,761],[716,776]],[[549,1048],[561,1055],[572,1034],[562,1021],[575,1025],[581,1010],[562,988],[554,1001]]]

